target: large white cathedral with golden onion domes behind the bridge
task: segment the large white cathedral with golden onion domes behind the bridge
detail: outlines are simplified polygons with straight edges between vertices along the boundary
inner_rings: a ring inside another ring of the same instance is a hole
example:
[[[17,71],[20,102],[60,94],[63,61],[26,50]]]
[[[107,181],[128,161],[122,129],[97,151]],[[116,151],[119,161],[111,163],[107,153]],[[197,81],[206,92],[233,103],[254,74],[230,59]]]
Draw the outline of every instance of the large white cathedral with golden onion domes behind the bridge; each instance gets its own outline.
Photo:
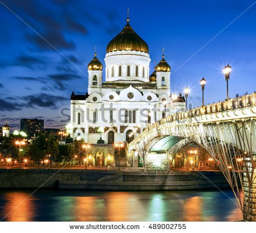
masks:
[[[73,139],[112,147],[129,143],[149,124],[185,110],[184,97],[171,95],[171,66],[164,55],[150,74],[148,45],[126,20],[106,47],[105,81],[94,53],[88,64],[88,92],[71,94]]]

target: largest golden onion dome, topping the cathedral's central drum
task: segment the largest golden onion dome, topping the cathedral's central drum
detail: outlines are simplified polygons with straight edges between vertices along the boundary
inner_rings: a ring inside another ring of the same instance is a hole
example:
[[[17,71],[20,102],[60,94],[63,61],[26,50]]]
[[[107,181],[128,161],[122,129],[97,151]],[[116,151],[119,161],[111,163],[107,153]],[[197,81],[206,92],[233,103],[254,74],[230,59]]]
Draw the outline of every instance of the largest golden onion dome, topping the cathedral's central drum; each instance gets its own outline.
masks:
[[[148,53],[147,43],[136,34],[133,28],[129,24],[129,18],[127,18],[127,24],[123,30],[111,40],[107,46],[106,52],[113,51],[141,51]]]

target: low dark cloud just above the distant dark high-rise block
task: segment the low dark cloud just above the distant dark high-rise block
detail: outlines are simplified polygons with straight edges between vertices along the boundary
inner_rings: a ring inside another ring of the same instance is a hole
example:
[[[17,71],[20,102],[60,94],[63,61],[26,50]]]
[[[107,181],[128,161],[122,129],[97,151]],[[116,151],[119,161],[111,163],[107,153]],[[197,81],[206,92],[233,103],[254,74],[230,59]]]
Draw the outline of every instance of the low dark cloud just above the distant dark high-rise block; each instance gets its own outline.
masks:
[[[31,94],[22,97],[26,101],[26,106],[36,108],[36,107],[48,107],[51,109],[56,109],[57,105],[63,101],[66,101],[67,98],[51,95],[46,93]]]

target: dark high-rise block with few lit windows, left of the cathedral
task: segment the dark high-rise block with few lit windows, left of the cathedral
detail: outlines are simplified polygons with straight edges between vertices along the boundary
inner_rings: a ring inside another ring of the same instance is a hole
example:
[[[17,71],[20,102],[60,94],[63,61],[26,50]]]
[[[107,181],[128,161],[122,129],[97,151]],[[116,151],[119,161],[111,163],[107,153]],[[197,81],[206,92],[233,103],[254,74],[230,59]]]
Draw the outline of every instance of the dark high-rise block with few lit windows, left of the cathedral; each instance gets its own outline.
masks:
[[[44,120],[42,119],[20,119],[20,131],[26,132],[27,138],[38,136],[44,131]]]

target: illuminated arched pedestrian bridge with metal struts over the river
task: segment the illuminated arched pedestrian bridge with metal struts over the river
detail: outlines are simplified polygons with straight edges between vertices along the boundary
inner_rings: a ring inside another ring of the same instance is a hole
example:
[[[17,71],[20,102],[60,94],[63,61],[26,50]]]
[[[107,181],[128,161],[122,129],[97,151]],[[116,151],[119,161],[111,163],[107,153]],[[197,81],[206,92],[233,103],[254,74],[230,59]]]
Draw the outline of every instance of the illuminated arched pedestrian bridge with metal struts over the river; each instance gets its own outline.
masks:
[[[254,214],[246,209],[250,193],[256,190],[256,93],[167,116],[148,126],[128,149],[131,155],[141,157],[144,170],[170,170],[176,153],[191,142],[205,148],[216,161],[244,218],[256,220],[256,208]],[[243,182],[244,194],[249,195],[246,207],[238,194],[237,178]]]

